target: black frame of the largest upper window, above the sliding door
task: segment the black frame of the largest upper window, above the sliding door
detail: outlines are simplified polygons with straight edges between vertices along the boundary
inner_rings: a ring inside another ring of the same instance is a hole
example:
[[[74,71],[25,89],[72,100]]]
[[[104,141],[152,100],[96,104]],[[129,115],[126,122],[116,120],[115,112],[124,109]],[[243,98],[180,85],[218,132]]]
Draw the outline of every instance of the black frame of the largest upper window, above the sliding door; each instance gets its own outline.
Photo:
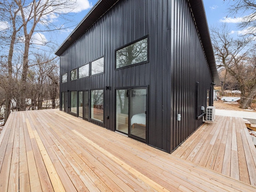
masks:
[[[142,61],[142,62],[138,62],[138,63],[134,63],[134,64],[131,64],[131,65],[127,65],[127,66],[123,66],[123,67],[118,67],[118,68],[116,68],[116,52],[117,52],[118,50],[122,49],[122,48],[125,48],[125,47],[127,47],[127,46],[130,46],[130,45],[132,45],[132,44],[134,44],[134,43],[136,43],[136,42],[139,42],[139,41],[141,41],[141,40],[143,40],[143,39],[146,39],[146,38],[147,38],[147,60],[146,60],[146,61]],[[135,40],[135,41],[133,41],[133,42],[130,42],[130,43],[128,43],[128,44],[125,44],[125,45],[122,46],[122,47],[119,47],[119,48],[115,49],[115,70],[120,70],[120,69],[123,69],[123,68],[128,68],[128,67],[131,67],[131,66],[136,66],[136,65],[148,63],[148,62],[149,62],[149,52],[150,52],[149,47],[150,47],[150,46],[149,46],[149,34],[148,34],[148,35],[146,35],[146,36],[143,36],[143,37],[140,38],[140,39],[137,39],[137,40]]]

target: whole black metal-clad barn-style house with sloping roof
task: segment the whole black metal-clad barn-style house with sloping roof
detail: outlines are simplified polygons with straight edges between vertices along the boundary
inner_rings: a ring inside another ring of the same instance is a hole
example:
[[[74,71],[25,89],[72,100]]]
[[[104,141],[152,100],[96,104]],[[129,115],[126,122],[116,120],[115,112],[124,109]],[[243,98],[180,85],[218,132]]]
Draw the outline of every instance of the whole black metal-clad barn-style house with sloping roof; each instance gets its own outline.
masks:
[[[202,0],[99,0],[55,54],[60,110],[169,153],[219,81]]]

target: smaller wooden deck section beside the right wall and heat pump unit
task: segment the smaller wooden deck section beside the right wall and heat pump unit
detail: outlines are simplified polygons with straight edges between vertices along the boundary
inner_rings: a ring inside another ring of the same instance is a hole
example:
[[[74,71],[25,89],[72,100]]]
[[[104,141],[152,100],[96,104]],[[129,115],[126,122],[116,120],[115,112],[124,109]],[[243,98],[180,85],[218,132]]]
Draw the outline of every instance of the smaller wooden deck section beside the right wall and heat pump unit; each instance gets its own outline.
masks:
[[[172,155],[256,186],[256,148],[242,118],[216,116]]]

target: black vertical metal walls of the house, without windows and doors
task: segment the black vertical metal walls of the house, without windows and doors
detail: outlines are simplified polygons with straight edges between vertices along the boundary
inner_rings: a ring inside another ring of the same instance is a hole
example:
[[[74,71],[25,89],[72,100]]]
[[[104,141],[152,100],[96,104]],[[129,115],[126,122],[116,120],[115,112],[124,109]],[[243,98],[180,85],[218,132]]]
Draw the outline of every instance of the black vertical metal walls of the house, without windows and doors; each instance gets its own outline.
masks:
[[[149,62],[115,69],[115,50],[144,36]],[[114,131],[115,88],[148,87],[146,143],[172,152],[203,123],[197,116],[206,108],[207,90],[213,104],[214,78],[201,38],[188,0],[117,1],[60,54],[60,77],[68,73],[68,82],[60,83],[60,95],[69,91],[67,112],[70,91],[102,88],[104,124],[92,122]],[[102,56],[104,74],[70,81],[71,70]]]

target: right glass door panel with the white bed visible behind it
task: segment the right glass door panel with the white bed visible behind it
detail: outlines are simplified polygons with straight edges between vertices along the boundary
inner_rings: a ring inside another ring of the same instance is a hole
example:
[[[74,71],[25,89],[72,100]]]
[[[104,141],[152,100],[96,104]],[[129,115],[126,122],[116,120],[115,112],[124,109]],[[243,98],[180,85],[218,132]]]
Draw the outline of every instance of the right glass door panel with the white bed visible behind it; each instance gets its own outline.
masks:
[[[146,139],[146,89],[130,93],[130,134]]]

